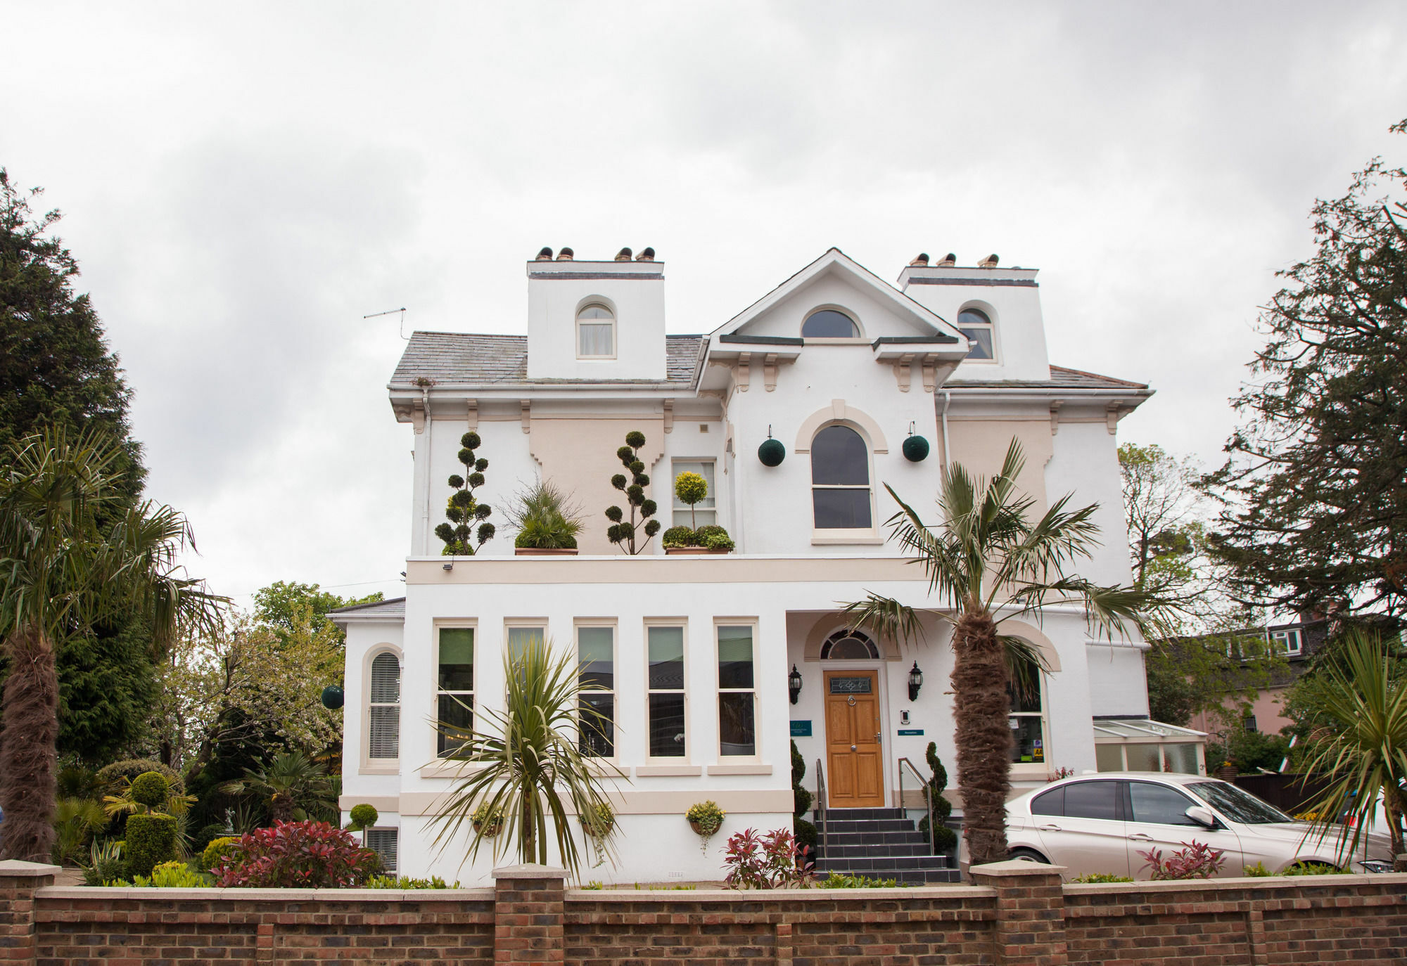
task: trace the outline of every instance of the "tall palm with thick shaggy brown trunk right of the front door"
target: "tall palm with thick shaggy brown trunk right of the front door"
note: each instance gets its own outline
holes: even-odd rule
[[[1152,603],[1131,586],[1100,586],[1065,574],[1097,546],[1097,505],[1068,510],[1069,496],[1062,496],[1033,523],[1036,501],[1016,489],[1023,464],[1013,439],[991,481],[974,481],[958,464],[946,468],[937,499],[941,519],[931,527],[885,485],[902,508],[889,519],[893,537],[923,564],[929,593],[955,612],[954,741],[962,834],[974,865],[1006,858],[1007,688],[1033,686],[1036,669],[1045,668],[1034,647],[1000,633],[1002,622],[1040,616],[1048,605],[1081,603],[1090,624],[1112,637],[1127,626],[1142,630],[1140,612]],[[892,640],[922,638],[919,612],[891,598],[871,593],[847,612],[855,626],[868,624]]]

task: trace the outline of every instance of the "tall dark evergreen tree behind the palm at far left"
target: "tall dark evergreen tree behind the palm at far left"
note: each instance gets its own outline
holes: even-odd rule
[[[104,533],[135,505],[146,470],[131,436],[132,392],[103,323],[73,290],[79,266],[53,236],[58,211],[34,215],[39,188],[21,191],[0,169],[0,451],[49,426],[103,430],[115,440],[110,487],[97,509]],[[141,738],[155,678],[151,629],[114,614],[58,654],[59,754],[97,764]],[[6,668],[0,666],[0,681]]]

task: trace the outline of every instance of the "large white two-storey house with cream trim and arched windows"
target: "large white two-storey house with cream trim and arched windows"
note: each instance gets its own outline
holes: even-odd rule
[[[539,634],[590,657],[611,689],[613,735],[597,751],[626,779],[619,858],[594,879],[719,877],[729,834],[789,827],[791,740],[810,789],[820,762],[832,809],[900,804],[900,780],[916,786],[900,759],[927,778],[929,741],[955,771],[950,624],[936,614],[923,644],[900,648],[840,613],[871,591],[937,609],[886,543],[896,506],[882,484],[931,508],[948,461],[991,474],[1019,437],[1020,485],[1041,508],[1067,492],[1100,505],[1104,547],[1081,572],[1130,577],[1116,429],[1151,391],[1051,366],[1036,276],[922,257],[892,285],[830,249],[709,335],[667,335],[653,252],[545,252],[528,263],[526,336],[415,332],[388,384],[415,446],[405,598],[335,614],[348,631],[342,807],[380,810],[369,841],[402,875],[484,877],[487,858],[433,844],[459,768],[435,720],[501,703],[505,643]],[[499,530],[478,555],[445,557],[435,527],[469,430]],[[726,527],[734,553],[667,555],[656,539],[626,555],[606,540],[630,430],[644,433],[664,526],[689,522],[671,509],[674,477],[701,472],[698,522]],[[927,446],[905,447],[910,436]],[[777,465],[758,456],[768,439],[785,449]],[[515,555],[501,509],[539,478],[587,510],[580,555]],[[1200,768],[1190,733],[1147,723],[1141,643],[1095,640],[1074,609],[1003,627],[1051,669],[1040,702],[1013,707],[1019,787],[1095,769],[1096,745],[1106,766],[1151,754]],[[706,799],[727,820],[701,849],[684,813]]]

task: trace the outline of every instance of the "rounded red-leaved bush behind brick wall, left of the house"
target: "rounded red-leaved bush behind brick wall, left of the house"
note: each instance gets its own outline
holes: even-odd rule
[[[277,821],[242,835],[211,873],[222,887],[338,889],[360,886],[380,870],[380,856],[342,828]]]

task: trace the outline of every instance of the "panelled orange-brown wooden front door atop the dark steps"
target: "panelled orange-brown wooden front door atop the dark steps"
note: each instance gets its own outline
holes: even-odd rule
[[[826,672],[826,807],[882,809],[879,672]]]

